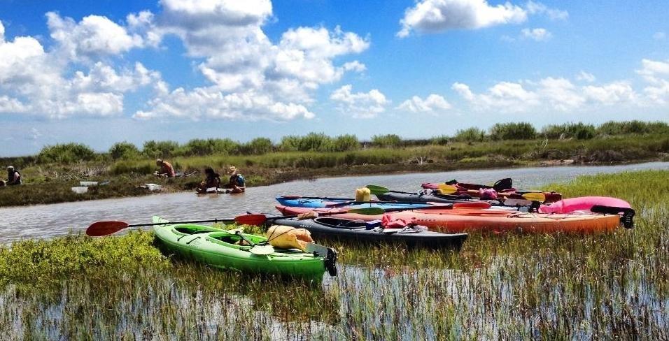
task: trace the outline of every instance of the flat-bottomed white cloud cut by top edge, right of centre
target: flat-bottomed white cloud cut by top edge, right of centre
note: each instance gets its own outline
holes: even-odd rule
[[[402,38],[411,31],[435,33],[448,29],[481,29],[525,22],[527,11],[512,3],[491,6],[486,0],[421,0],[407,8],[400,20]]]

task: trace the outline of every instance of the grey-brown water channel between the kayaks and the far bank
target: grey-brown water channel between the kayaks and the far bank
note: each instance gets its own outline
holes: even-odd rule
[[[512,177],[514,186],[523,189],[540,187],[551,182],[564,182],[579,175],[618,173],[631,170],[669,169],[669,162],[651,162],[621,166],[564,166],[512,168],[490,170],[458,170],[442,173],[410,173],[401,175],[372,175],[327,177],[251,187],[246,194],[221,195],[216,198],[198,197],[192,193],[155,194],[132,198],[80,201],[52,205],[0,209],[0,243],[27,238],[52,238],[68,231],[82,231],[99,220],[122,220],[130,224],[150,222],[160,215],[167,219],[213,219],[234,217],[246,211],[273,214],[281,195],[352,197],[355,188],[379,184],[399,191],[418,191],[423,182],[444,182],[457,179],[463,182],[492,183]]]

